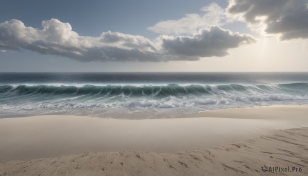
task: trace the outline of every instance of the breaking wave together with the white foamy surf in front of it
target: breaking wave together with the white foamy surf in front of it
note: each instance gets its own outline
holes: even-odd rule
[[[290,103],[291,102],[291,103]],[[230,107],[307,104],[308,83],[276,85],[2,85],[0,111],[31,114],[100,112],[103,109],[195,111]],[[118,109],[117,109],[118,108]],[[194,108],[192,108],[194,109]]]

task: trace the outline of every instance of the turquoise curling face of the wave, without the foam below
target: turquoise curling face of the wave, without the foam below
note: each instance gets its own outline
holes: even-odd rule
[[[0,94],[18,96],[24,94],[41,95],[95,95],[95,96],[149,96],[167,97],[183,95],[228,95],[228,94],[260,94],[260,93],[308,93],[308,83],[291,83],[277,85],[83,85],[83,86],[53,86],[53,85],[3,85]]]

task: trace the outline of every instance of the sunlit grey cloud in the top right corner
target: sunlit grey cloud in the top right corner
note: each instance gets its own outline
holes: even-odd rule
[[[308,38],[307,3],[307,0],[231,0],[227,13],[255,31],[279,34],[280,40]]]

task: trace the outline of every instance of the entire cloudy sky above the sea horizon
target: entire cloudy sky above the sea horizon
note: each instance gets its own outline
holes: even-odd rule
[[[0,4],[0,72],[308,71],[308,0]]]

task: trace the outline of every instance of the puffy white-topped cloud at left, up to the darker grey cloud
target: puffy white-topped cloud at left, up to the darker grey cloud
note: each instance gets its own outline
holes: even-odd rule
[[[142,36],[118,32],[102,33],[100,37],[80,36],[72,31],[69,23],[54,18],[43,21],[42,26],[42,30],[26,27],[16,19],[1,23],[0,48],[24,48],[81,62],[160,61],[153,44]]]

